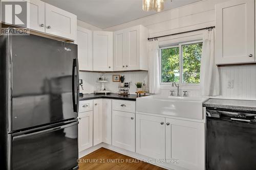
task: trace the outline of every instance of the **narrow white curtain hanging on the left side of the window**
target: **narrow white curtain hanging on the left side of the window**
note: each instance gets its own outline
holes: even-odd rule
[[[158,41],[149,41],[149,59],[148,59],[148,85],[150,93],[160,92],[159,75],[159,44]]]

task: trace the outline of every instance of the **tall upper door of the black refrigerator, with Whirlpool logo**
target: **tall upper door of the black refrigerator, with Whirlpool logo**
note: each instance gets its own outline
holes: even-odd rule
[[[77,117],[77,45],[36,35],[10,39],[9,131]]]

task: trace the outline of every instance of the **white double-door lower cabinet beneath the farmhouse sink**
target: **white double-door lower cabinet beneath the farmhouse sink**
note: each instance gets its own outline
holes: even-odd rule
[[[204,169],[204,123],[136,114],[136,152],[175,166]]]

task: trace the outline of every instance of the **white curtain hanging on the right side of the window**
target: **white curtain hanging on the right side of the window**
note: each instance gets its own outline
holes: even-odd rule
[[[220,75],[215,63],[215,30],[206,30],[203,39],[200,85],[202,95],[220,95]]]

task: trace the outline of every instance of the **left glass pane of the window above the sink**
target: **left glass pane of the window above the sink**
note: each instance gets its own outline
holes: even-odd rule
[[[161,82],[179,82],[179,47],[161,50]]]

